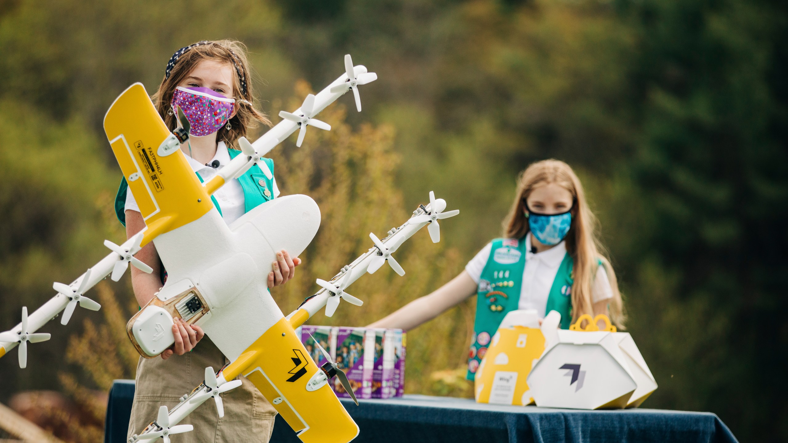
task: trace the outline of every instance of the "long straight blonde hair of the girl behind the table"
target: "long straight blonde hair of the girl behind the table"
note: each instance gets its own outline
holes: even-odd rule
[[[542,160],[532,163],[517,179],[517,197],[511,204],[511,210],[504,219],[504,237],[522,239],[529,232],[528,218],[523,214],[522,202],[528,199],[533,189],[545,184],[558,184],[571,193],[574,200],[572,206],[572,222],[566,236],[567,253],[571,255],[574,266],[572,277],[572,322],[578,317],[588,314],[593,317],[591,303],[591,288],[594,276],[597,274],[597,260],[602,262],[608,274],[613,298],[610,300],[611,321],[623,329],[624,312],[619,285],[615,279],[615,272],[610,260],[604,254],[604,248],[598,238],[597,218],[585,202],[580,179],[572,168],[559,160]]]

